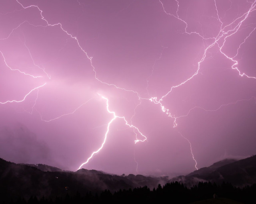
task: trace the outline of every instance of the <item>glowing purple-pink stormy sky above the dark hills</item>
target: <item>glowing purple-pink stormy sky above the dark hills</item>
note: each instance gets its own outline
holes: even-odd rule
[[[256,153],[255,1],[3,0],[0,24],[3,159],[174,175]]]

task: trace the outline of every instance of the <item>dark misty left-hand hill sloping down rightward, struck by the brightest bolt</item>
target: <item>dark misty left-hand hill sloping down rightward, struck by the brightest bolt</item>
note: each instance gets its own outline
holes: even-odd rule
[[[25,199],[31,196],[55,197],[70,195],[76,192],[101,192],[110,189],[136,188],[147,185],[156,187],[159,183],[168,182],[168,178],[145,177],[143,175],[118,176],[102,171],[80,169],[76,172],[55,171],[56,167],[48,165],[15,164],[0,159],[0,195],[6,200]]]

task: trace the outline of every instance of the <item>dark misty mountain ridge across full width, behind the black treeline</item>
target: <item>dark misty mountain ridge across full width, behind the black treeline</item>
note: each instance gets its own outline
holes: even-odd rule
[[[19,197],[25,200],[31,196],[56,198],[56,196],[65,197],[67,193],[70,196],[75,196],[77,192],[95,194],[106,189],[114,193],[120,192],[120,189],[128,190],[141,186],[147,186],[150,189],[155,189],[157,186],[157,190],[162,188],[159,184],[170,184],[176,181],[182,182],[188,188],[199,185],[200,181],[216,184],[229,182],[235,186],[256,183],[256,156],[238,161],[232,161],[232,159],[219,161],[186,176],[172,179],[133,174],[118,176],[88,169],[79,169],[76,172],[55,171],[57,169],[42,164],[15,164],[0,158],[0,199],[9,202]]]

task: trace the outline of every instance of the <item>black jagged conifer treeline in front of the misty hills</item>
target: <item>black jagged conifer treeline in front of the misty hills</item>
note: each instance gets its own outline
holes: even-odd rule
[[[238,188],[230,183],[223,182],[217,185],[211,182],[199,182],[191,188],[187,188],[182,183],[172,182],[164,186],[160,184],[153,190],[147,186],[130,188],[128,190],[119,190],[111,193],[105,190],[100,194],[92,194],[90,192],[81,196],[79,192],[71,196],[66,194],[64,197],[55,198],[40,198],[32,196],[29,200],[19,198],[16,201],[11,201],[10,204],[98,204],[98,203],[160,203],[168,200],[169,203],[190,203],[199,200],[213,198],[214,194],[218,197],[230,198],[242,203],[256,203],[256,184]],[[218,199],[218,198],[217,198]],[[7,203],[6,203],[7,204]]]

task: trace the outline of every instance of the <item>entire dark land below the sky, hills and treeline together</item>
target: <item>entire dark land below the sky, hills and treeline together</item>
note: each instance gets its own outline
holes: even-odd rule
[[[165,199],[173,203],[237,203],[226,198],[256,203],[256,156],[223,160],[172,180],[87,169],[58,170],[0,159],[0,203],[158,203]],[[213,194],[226,198],[206,200]]]

